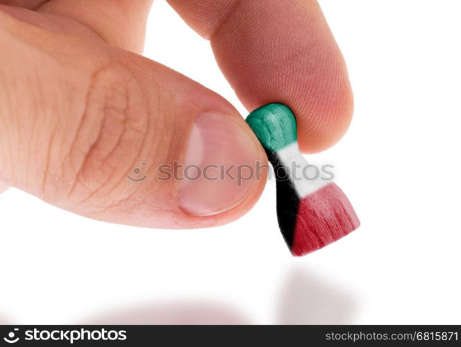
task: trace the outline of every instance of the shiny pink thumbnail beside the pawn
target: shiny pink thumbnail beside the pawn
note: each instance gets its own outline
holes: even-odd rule
[[[258,160],[258,140],[242,119],[202,112],[190,134],[179,205],[196,216],[235,208],[255,185]]]

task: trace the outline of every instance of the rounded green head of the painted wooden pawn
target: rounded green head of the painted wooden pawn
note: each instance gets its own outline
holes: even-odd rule
[[[296,118],[283,103],[268,103],[246,117],[265,149],[278,151],[296,142]]]

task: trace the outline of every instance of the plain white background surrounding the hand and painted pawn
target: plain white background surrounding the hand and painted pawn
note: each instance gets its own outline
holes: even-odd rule
[[[0,195],[0,323],[461,323],[460,1],[325,0],[355,95],[333,163],[360,229],[293,258],[275,184],[208,230],[92,221]],[[246,110],[162,0],[145,55]]]

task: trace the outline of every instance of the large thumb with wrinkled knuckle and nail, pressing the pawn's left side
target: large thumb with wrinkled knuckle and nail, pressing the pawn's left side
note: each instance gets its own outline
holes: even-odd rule
[[[226,223],[262,192],[262,147],[221,96],[156,62],[0,20],[0,180],[87,217]]]

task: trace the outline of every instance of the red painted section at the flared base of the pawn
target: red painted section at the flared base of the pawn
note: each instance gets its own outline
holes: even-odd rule
[[[300,256],[326,246],[360,226],[347,196],[335,183],[305,196],[296,216],[291,245]]]

